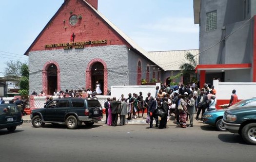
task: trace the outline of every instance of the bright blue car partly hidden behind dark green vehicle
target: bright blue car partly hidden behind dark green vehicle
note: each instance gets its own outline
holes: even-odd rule
[[[203,122],[205,124],[209,124],[212,126],[216,126],[217,130],[219,131],[227,131],[223,122],[222,118],[224,115],[224,112],[228,109],[234,109],[237,107],[244,107],[244,106],[249,106],[249,105],[255,105],[256,106],[256,98],[250,98],[250,99],[245,99],[237,102],[236,104],[230,106],[227,109],[219,109],[219,110],[214,110],[214,111],[206,111],[203,115]]]

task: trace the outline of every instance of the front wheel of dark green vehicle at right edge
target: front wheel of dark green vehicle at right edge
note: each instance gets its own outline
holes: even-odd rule
[[[245,125],[241,135],[246,143],[256,145],[256,123]]]

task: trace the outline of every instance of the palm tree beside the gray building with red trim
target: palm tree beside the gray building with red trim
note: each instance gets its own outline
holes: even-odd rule
[[[185,59],[188,62],[181,64],[179,66],[179,69],[180,69],[181,73],[183,74],[183,76],[186,76],[186,78],[184,77],[184,79],[189,79],[187,81],[190,81],[191,75],[193,75],[193,76],[196,75],[196,78],[197,78],[197,74],[195,72],[196,66],[197,66],[197,61],[196,61],[195,56],[190,52],[187,52],[185,54]]]

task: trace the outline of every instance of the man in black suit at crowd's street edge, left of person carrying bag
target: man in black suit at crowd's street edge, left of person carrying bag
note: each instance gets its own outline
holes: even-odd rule
[[[153,128],[153,120],[156,120],[156,127],[158,127],[158,115],[156,114],[157,108],[160,106],[160,98],[157,97],[156,100],[152,101],[151,105],[149,106],[149,113],[150,113],[150,123],[149,128]]]

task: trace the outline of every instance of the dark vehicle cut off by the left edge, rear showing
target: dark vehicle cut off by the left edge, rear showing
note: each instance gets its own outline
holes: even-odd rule
[[[14,131],[22,123],[22,114],[17,105],[0,104],[0,129]]]

